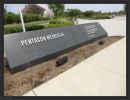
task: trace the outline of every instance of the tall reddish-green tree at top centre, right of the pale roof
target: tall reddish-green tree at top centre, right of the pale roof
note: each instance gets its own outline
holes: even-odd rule
[[[54,12],[55,16],[61,16],[64,14],[64,4],[49,4],[48,6]]]

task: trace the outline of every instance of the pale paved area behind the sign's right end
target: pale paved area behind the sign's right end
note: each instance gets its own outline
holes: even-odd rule
[[[86,20],[78,19],[79,24],[99,22],[108,32],[109,36],[126,36],[126,16],[115,17],[114,19]]]

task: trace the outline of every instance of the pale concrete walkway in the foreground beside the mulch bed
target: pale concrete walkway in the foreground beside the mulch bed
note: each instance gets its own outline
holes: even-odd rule
[[[24,96],[126,96],[126,38]]]

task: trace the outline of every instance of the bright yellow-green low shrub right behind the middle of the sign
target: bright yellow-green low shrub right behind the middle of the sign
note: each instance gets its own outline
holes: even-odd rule
[[[48,27],[63,27],[63,26],[69,26],[73,25],[73,22],[69,20],[60,20],[60,19],[53,19],[49,22]]]

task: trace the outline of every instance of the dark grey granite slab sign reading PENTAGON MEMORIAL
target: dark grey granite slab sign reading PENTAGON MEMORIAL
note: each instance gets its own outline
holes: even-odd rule
[[[4,51],[12,73],[107,36],[95,23],[49,28],[4,36]]]

